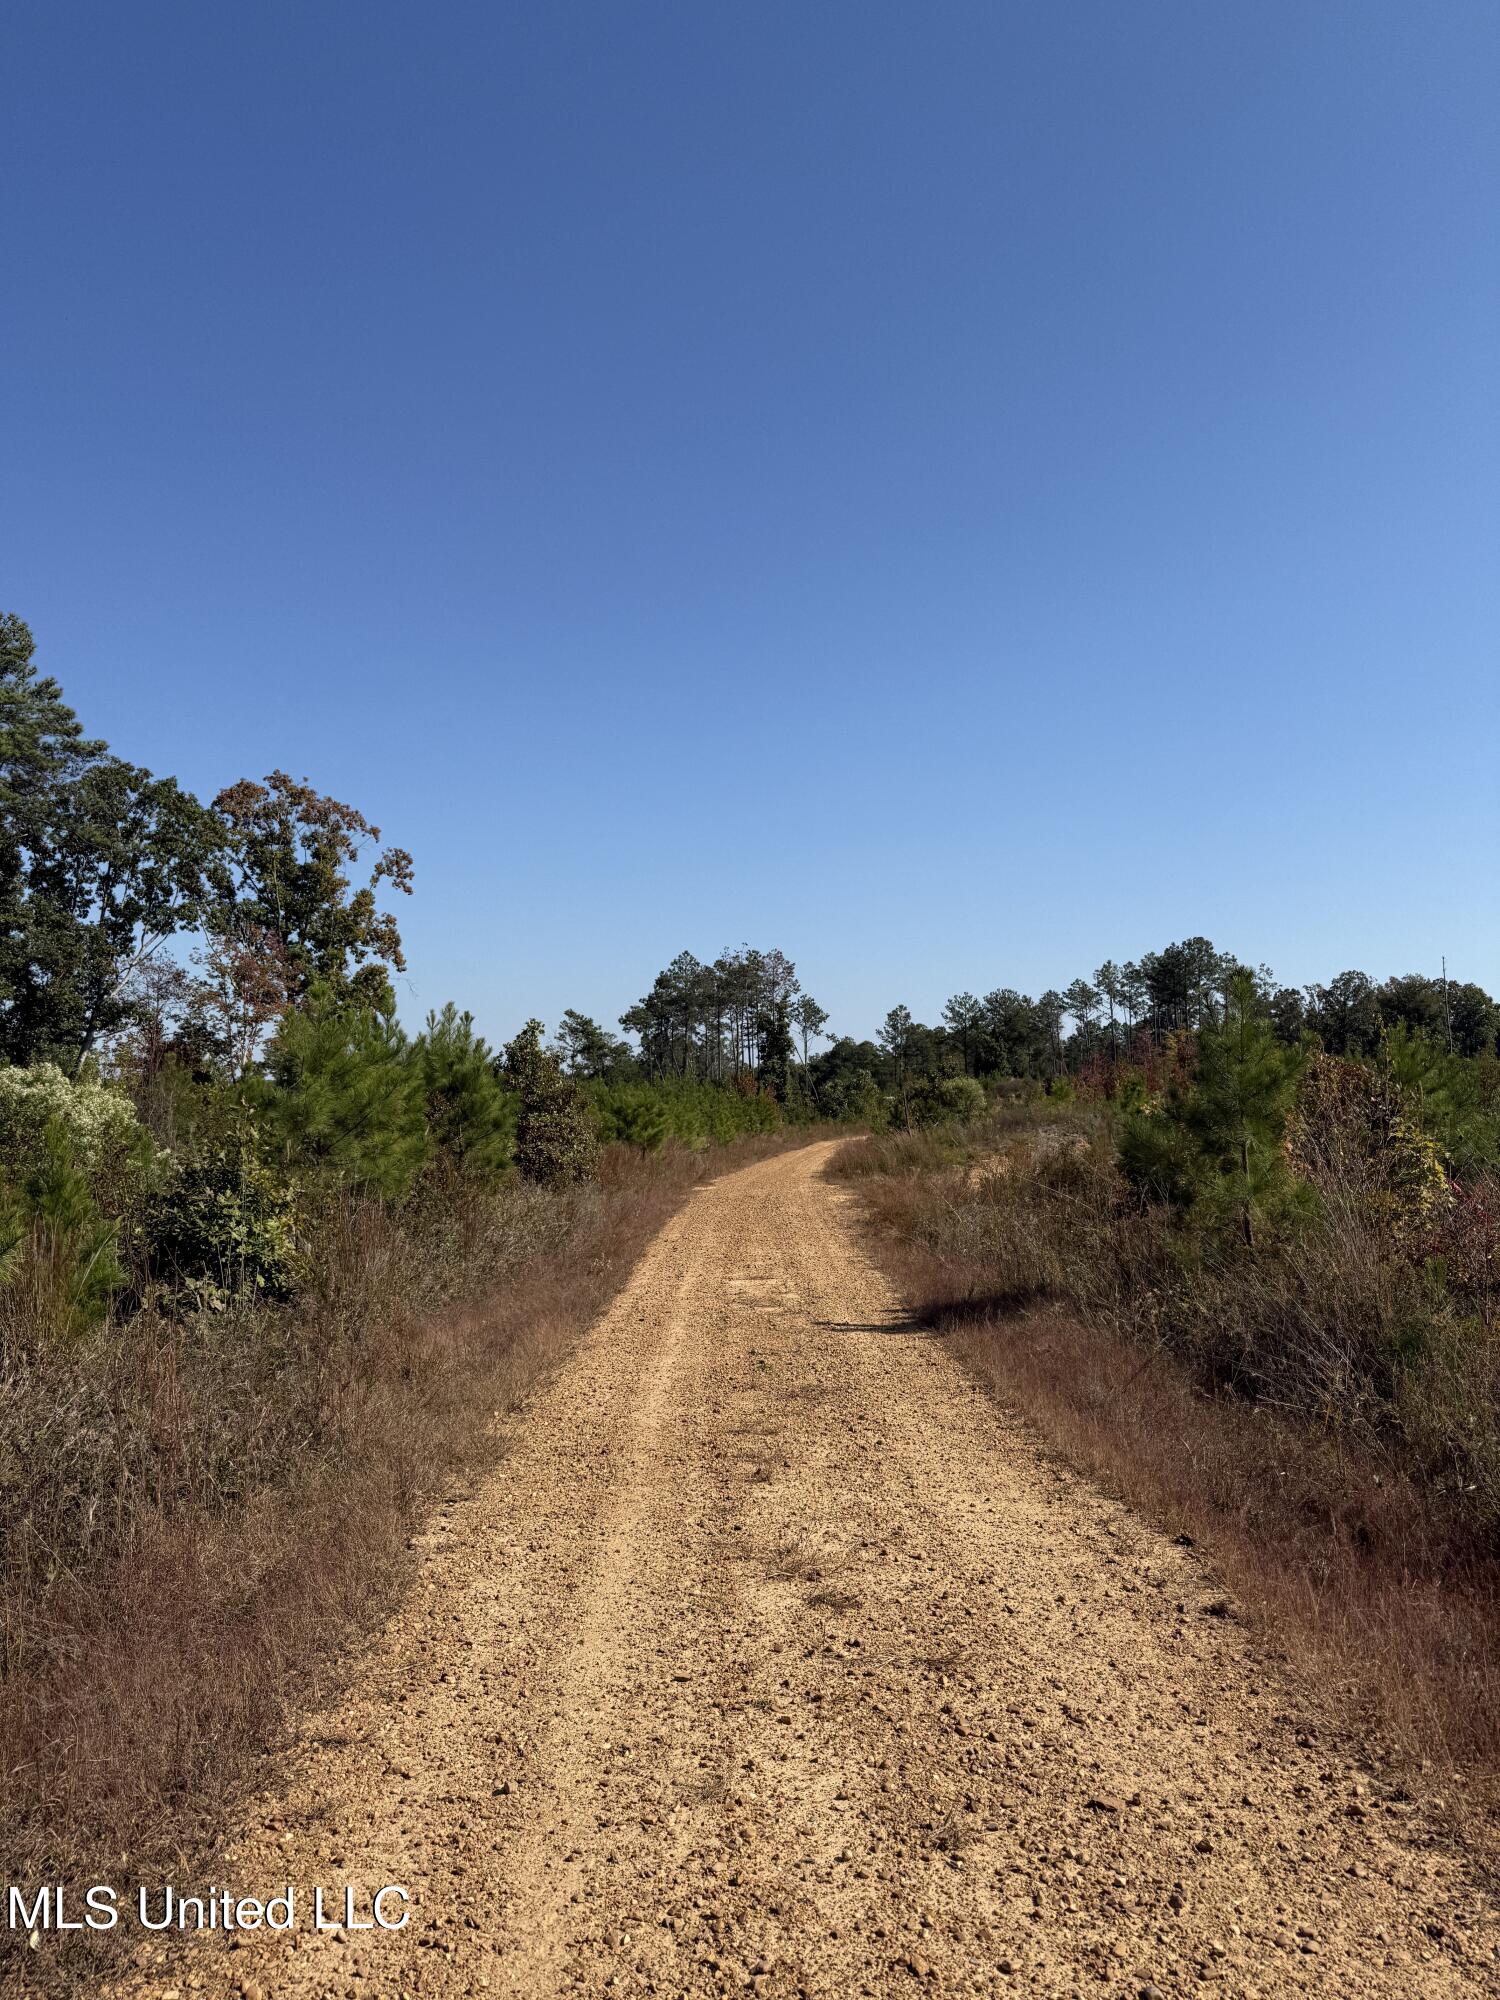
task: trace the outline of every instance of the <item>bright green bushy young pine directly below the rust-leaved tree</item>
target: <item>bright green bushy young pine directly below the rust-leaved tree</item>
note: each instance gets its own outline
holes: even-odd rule
[[[432,1152],[422,1084],[390,990],[362,1006],[320,986],[282,1018],[250,1098],[294,1174],[400,1200]]]

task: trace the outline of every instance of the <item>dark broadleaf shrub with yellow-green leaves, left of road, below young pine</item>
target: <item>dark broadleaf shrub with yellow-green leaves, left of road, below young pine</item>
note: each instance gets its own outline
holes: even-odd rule
[[[244,1124],[186,1158],[146,1218],[146,1254],[166,1296],[222,1312],[238,1298],[288,1298],[302,1276],[296,1184],[272,1172]]]

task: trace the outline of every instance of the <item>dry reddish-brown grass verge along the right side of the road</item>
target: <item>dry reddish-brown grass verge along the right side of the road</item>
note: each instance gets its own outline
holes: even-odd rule
[[[1438,1322],[1422,1366],[1380,1380],[1370,1352],[1406,1332],[1412,1296],[1348,1218],[1292,1260],[1198,1272],[1070,1152],[976,1182],[962,1138],[924,1136],[850,1148],[844,1172],[876,1254],[986,1386],[1200,1544],[1348,1722],[1494,1810],[1490,1342],[1464,1350]]]

